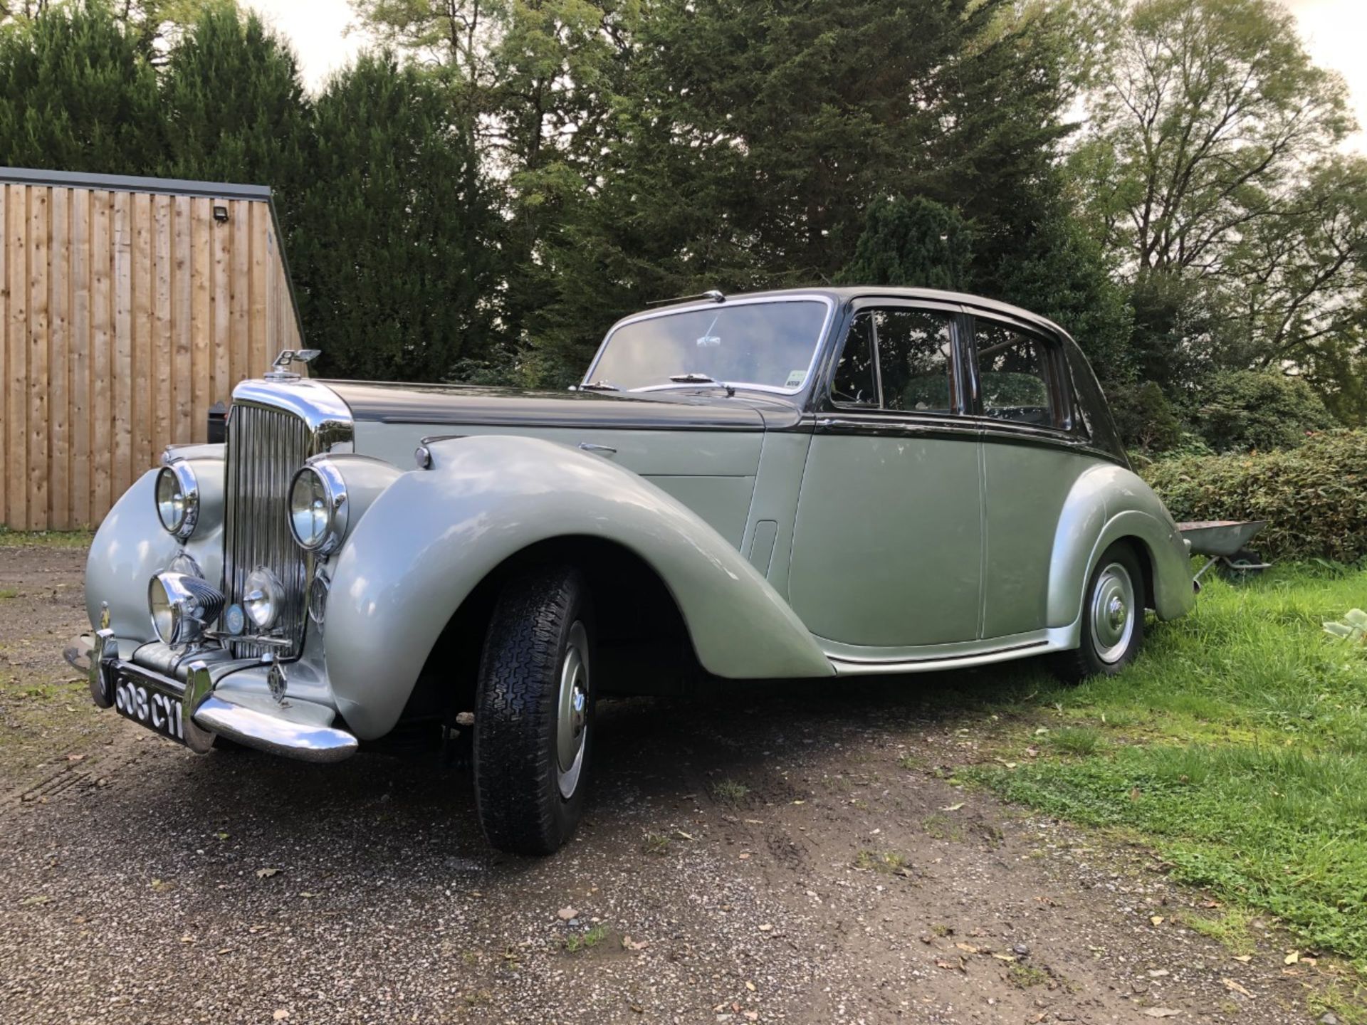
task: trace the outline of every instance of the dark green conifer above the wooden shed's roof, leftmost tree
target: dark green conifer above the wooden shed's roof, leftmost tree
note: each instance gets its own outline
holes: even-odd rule
[[[107,4],[52,7],[0,34],[0,163],[148,174],[165,138],[156,71]]]

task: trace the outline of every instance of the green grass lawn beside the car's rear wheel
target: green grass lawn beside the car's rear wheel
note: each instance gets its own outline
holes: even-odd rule
[[[1353,607],[1367,607],[1363,570],[1211,579],[1189,616],[1150,620],[1118,678],[1012,681],[1020,697],[994,709],[999,761],[962,775],[1143,835],[1226,902],[1193,928],[1237,947],[1248,912],[1271,912],[1304,953],[1367,972],[1367,646],[1322,629]]]

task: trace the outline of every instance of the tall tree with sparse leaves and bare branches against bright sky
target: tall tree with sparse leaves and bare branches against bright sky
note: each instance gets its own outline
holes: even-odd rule
[[[1337,161],[1342,82],[1271,0],[1115,3],[1073,154],[1088,221],[1133,283],[1146,369],[1303,359],[1360,305],[1367,175]]]

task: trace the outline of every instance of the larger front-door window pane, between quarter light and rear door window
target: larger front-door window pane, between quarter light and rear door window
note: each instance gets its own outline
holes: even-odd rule
[[[954,410],[950,390],[950,316],[931,310],[871,310],[883,377],[883,409]]]

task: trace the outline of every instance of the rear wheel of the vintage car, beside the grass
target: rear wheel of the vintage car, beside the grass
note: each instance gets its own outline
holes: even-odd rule
[[[1122,596],[1128,578],[1131,600]],[[1105,579],[1105,582],[1103,582]],[[1110,607],[1110,599],[1121,597],[1126,605],[1125,625],[1098,623],[1096,618]],[[1079,683],[1088,676],[1114,676],[1139,655],[1144,644],[1144,574],[1135,549],[1118,541],[1102,552],[1096,569],[1087,579],[1083,594],[1083,634],[1077,648],[1054,656],[1054,675],[1066,683]]]

